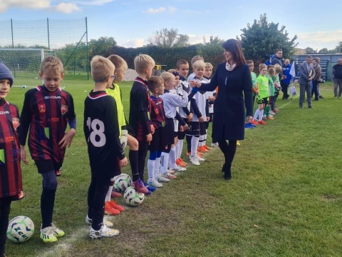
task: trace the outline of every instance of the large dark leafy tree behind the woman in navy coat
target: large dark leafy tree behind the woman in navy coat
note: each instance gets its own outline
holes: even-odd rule
[[[268,23],[266,14],[260,15],[259,21],[254,19],[252,25],[247,24],[247,28],[241,31],[241,39],[237,36],[237,40],[242,44],[246,59],[252,59],[257,63],[254,66],[264,63],[278,48],[283,50],[284,57],[289,58],[294,54],[294,48],[298,44],[295,43],[297,35],[289,39],[285,26],[279,29],[279,23]]]

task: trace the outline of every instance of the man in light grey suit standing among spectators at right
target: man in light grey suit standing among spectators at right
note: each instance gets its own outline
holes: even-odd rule
[[[312,57],[306,56],[306,60],[303,62],[303,64],[299,65],[299,72],[301,73],[301,76],[299,76],[299,108],[301,109],[303,109],[305,92],[306,98],[308,99],[308,108],[314,109],[314,107],[311,105],[311,80],[315,76],[315,71],[314,65],[311,63]]]

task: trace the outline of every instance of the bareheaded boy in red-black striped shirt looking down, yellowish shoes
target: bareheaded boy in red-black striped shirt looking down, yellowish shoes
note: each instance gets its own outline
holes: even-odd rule
[[[52,223],[53,206],[57,189],[56,172],[60,170],[66,146],[71,145],[76,133],[76,114],[73,97],[59,86],[64,78],[63,64],[56,56],[48,56],[41,63],[42,86],[25,94],[21,111],[19,141],[21,160],[26,160],[26,137],[28,148],[38,173],[43,178],[41,193],[41,239],[44,243],[55,242],[65,233]],[[70,130],[66,132],[69,124]],[[29,129],[29,132],[28,132]]]

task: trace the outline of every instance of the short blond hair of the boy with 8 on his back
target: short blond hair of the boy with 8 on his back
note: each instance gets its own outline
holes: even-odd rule
[[[94,56],[90,61],[90,67],[93,81],[100,81],[108,76],[112,76],[115,71],[114,64],[103,56]]]

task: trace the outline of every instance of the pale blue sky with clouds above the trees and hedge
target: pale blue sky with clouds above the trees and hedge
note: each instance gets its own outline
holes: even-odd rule
[[[160,29],[187,34],[190,44],[209,36],[231,39],[266,13],[269,22],[286,26],[299,48],[334,49],[342,41],[340,0],[0,0],[0,21],[10,19],[82,19],[88,40],[111,36],[119,46],[138,47]],[[318,2],[320,4],[318,4]]]

